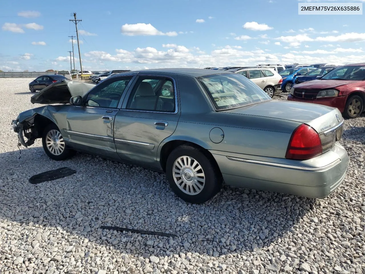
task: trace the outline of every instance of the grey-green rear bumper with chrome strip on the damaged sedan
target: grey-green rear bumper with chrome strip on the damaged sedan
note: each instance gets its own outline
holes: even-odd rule
[[[245,155],[212,154],[228,185],[308,198],[324,198],[337,189],[349,162],[346,150],[338,143],[331,151],[305,161],[278,158],[261,161],[245,159]]]

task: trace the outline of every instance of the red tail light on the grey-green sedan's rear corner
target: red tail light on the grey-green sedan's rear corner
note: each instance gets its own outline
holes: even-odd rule
[[[322,154],[318,133],[308,125],[298,126],[290,138],[285,158],[307,160]]]

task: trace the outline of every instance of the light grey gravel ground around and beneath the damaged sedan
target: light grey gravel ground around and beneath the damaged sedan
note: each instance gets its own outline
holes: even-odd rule
[[[37,107],[30,81],[0,79],[0,273],[365,273],[364,115],[345,121],[349,169],[329,197],[224,186],[191,205],[163,174],[81,153],[52,161],[39,140],[19,159],[10,123]],[[60,167],[77,173],[28,182]]]

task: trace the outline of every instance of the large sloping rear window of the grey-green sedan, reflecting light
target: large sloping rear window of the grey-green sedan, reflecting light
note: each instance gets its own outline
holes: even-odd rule
[[[258,85],[236,73],[198,77],[216,110],[233,109],[271,100]]]

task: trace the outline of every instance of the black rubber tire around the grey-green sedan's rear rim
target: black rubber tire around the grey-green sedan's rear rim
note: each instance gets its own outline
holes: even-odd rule
[[[202,189],[197,194],[194,195],[187,194],[183,190],[181,190],[180,187],[177,186],[177,183],[175,183],[173,168],[175,165],[175,161],[180,159],[180,157],[182,156],[188,156],[191,157],[192,160],[197,161],[197,163],[201,166],[201,170],[198,169],[196,170],[196,172],[199,172],[199,174],[201,174],[201,172],[204,173],[205,182],[203,184]],[[192,161],[192,163],[195,162]],[[180,170],[181,174],[183,174],[183,169]],[[212,158],[212,156],[209,155],[208,152],[204,151],[203,149],[194,148],[189,145],[178,146],[170,153],[166,162],[166,176],[169,181],[171,189],[178,197],[180,197],[186,202],[196,203],[196,204],[204,203],[213,198],[222,187],[222,182],[223,182],[222,174],[220,173],[219,167],[216,164],[215,160]],[[196,177],[189,177],[189,178],[196,178]],[[183,177],[181,177],[181,180],[183,180]],[[186,189],[188,189],[187,184],[186,183],[183,184],[185,184]],[[193,189],[193,187],[189,186],[189,189]]]

